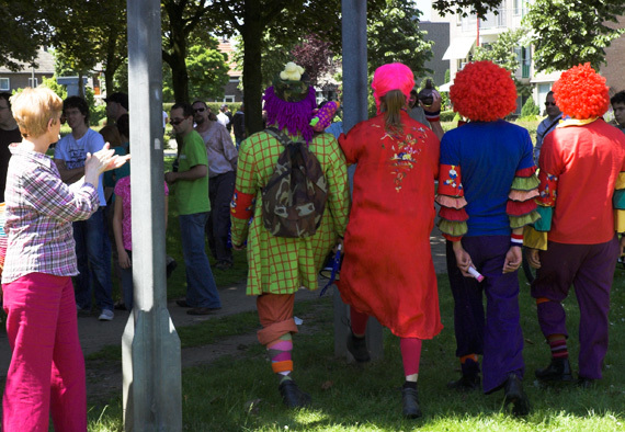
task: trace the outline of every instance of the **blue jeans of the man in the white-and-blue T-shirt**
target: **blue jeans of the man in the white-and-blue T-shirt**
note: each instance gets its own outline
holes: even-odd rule
[[[99,309],[113,310],[111,281],[111,241],[109,240],[106,207],[100,207],[87,220],[72,224],[76,241],[78,271],[76,276],[76,304],[81,309],[91,309],[91,291],[95,294]]]

